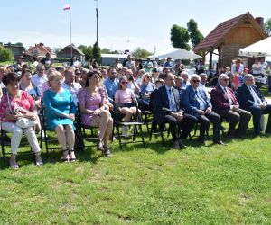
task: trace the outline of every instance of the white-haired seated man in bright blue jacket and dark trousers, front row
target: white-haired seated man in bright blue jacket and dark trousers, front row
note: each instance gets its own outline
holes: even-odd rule
[[[192,75],[191,82],[182,95],[182,103],[185,112],[197,117],[201,124],[199,142],[204,144],[204,133],[209,130],[210,121],[213,123],[213,142],[224,145],[220,137],[220,116],[212,112],[212,105],[206,92],[199,88],[201,78],[199,75]]]

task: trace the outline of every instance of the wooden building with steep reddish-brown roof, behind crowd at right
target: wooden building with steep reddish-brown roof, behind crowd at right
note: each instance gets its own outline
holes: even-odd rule
[[[212,54],[218,51],[219,66],[230,66],[232,59],[238,57],[239,49],[243,49],[259,40],[267,38],[263,28],[263,18],[256,19],[248,12],[228,21],[220,23],[206,38],[193,48],[195,53],[203,53],[202,59],[210,53],[210,69]],[[249,62],[248,62],[249,63]]]

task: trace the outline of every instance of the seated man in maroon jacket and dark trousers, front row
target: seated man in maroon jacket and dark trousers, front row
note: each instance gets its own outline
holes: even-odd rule
[[[251,113],[239,108],[239,103],[232,89],[228,87],[229,76],[221,74],[218,85],[210,92],[212,110],[229,121],[228,137],[241,137],[246,135]],[[238,129],[235,127],[238,125]]]

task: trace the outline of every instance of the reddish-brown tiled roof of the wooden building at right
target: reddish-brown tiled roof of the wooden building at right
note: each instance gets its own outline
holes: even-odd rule
[[[254,28],[263,36],[267,37],[264,29],[256,22],[254,17],[248,12],[246,14],[238,15],[228,21],[220,23],[213,31],[211,31],[201,42],[193,48],[194,52],[210,51],[217,49],[223,39],[229,34],[229,31],[236,28],[239,24],[249,21]]]

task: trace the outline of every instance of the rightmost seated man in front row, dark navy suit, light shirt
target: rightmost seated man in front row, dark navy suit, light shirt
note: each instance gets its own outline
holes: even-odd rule
[[[240,108],[251,112],[253,115],[254,135],[261,135],[261,116],[267,113],[269,113],[269,117],[266,133],[271,133],[271,104],[268,104],[265,97],[260,94],[259,89],[255,85],[254,77],[251,74],[244,76],[244,84],[238,87],[237,98]]]

